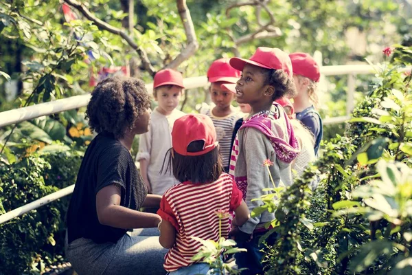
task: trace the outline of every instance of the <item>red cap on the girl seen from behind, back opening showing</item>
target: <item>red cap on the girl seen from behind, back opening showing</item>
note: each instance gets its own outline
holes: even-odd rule
[[[190,142],[203,140],[203,150],[199,152],[187,152]],[[216,141],[216,129],[211,118],[201,114],[187,114],[177,119],[172,129],[173,150],[180,155],[203,155],[212,151],[218,142]]]

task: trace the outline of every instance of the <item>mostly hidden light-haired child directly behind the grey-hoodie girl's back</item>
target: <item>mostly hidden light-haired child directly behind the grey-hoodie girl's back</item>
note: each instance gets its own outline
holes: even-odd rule
[[[312,132],[307,129],[300,120],[296,119],[293,104],[288,98],[279,98],[275,101],[279,103],[288,114],[290,124],[293,126],[295,137],[297,142],[299,142],[299,147],[301,148],[299,155],[297,155],[292,162],[293,179],[295,179],[296,177],[300,177],[304,173],[306,166],[316,159],[313,148],[314,137]]]

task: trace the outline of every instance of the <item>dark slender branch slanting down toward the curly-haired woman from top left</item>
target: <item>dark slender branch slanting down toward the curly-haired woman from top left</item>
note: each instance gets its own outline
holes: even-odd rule
[[[141,47],[139,47],[135,43],[135,41],[132,40],[132,38],[130,36],[128,36],[126,34],[126,32],[123,32],[119,28],[116,28],[113,25],[110,25],[110,24],[98,19],[93,14],[91,14],[91,12],[86,7],[84,7],[84,5],[82,3],[78,3],[77,1],[73,1],[73,0],[64,0],[64,1],[66,3],[68,3],[69,5],[71,5],[73,8],[75,8],[76,10],[78,10],[79,12],[81,12],[84,15],[84,17],[86,17],[90,21],[93,21],[93,23],[95,23],[95,25],[97,25],[98,28],[100,28],[101,30],[106,30],[107,32],[111,32],[112,34],[117,34],[117,35],[121,36],[122,39],[124,39],[128,43],[128,45],[130,45],[130,47],[132,47],[133,50],[135,50],[137,52],[137,54],[139,54],[140,59],[141,59],[141,63],[143,64],[146,71],[151,76],[155,76],[155,73],[156,73],[155,68],[150,63],[148,55],[146,54],[146,52]]]

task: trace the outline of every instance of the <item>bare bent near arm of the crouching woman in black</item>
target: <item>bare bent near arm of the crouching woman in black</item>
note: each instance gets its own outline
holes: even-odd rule
[[[158,214],[144,213],[120,206],[121,190],[111,184],[96,195],[96,210],[102,225],[113,228],[156,228],[161,218]]]

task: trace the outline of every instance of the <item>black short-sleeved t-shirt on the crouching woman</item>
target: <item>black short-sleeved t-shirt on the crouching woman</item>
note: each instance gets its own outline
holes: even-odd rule
[[[84,153],[67,211],[69,243],[79,238],[115,243],[126,234],[126,229],[102,225],[98,219],[96,195],[111,184],[122,186],[121,206],[138,210],[146,198],[146,185],[128,149],[113,134],[100,133]]]

